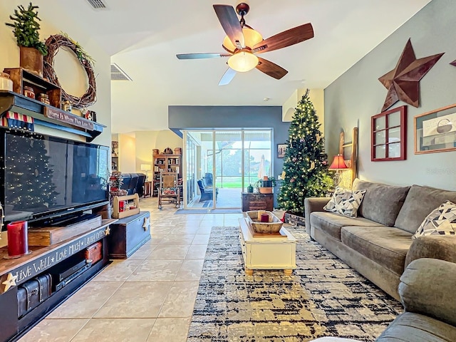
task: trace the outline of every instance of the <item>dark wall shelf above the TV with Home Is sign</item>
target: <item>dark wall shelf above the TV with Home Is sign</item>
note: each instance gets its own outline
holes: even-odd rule
[[[95,123],[73,113],[63,111],[60,108],[53,107],[52,105],[46,105],[33,98],[27,98],[19,93],[0,90],[0,116],[9,110],[31,116],[36,125],[55,128],[86,137],[86,141],[88,142],[98,137],[103,132],[103,128],[106,127],[100,123]],[[45,116],[45,113],[46,115],[48,113],[58,113],[58,115],[65,117],[66,121],[57,120],[57,114]]]

